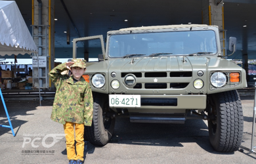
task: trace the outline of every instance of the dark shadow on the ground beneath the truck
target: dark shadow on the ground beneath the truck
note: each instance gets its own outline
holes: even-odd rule
[[[86,154],[93,154],[95,146],[87,143]],[[117,118],[114,135],[109,143],[144,146],[184,147],[184,143],[196,143],[211,154],[221,153],[213,150],[209,142],[208,127],[203,120],[187,120],[184,124],[131,123],[129,118]]]

